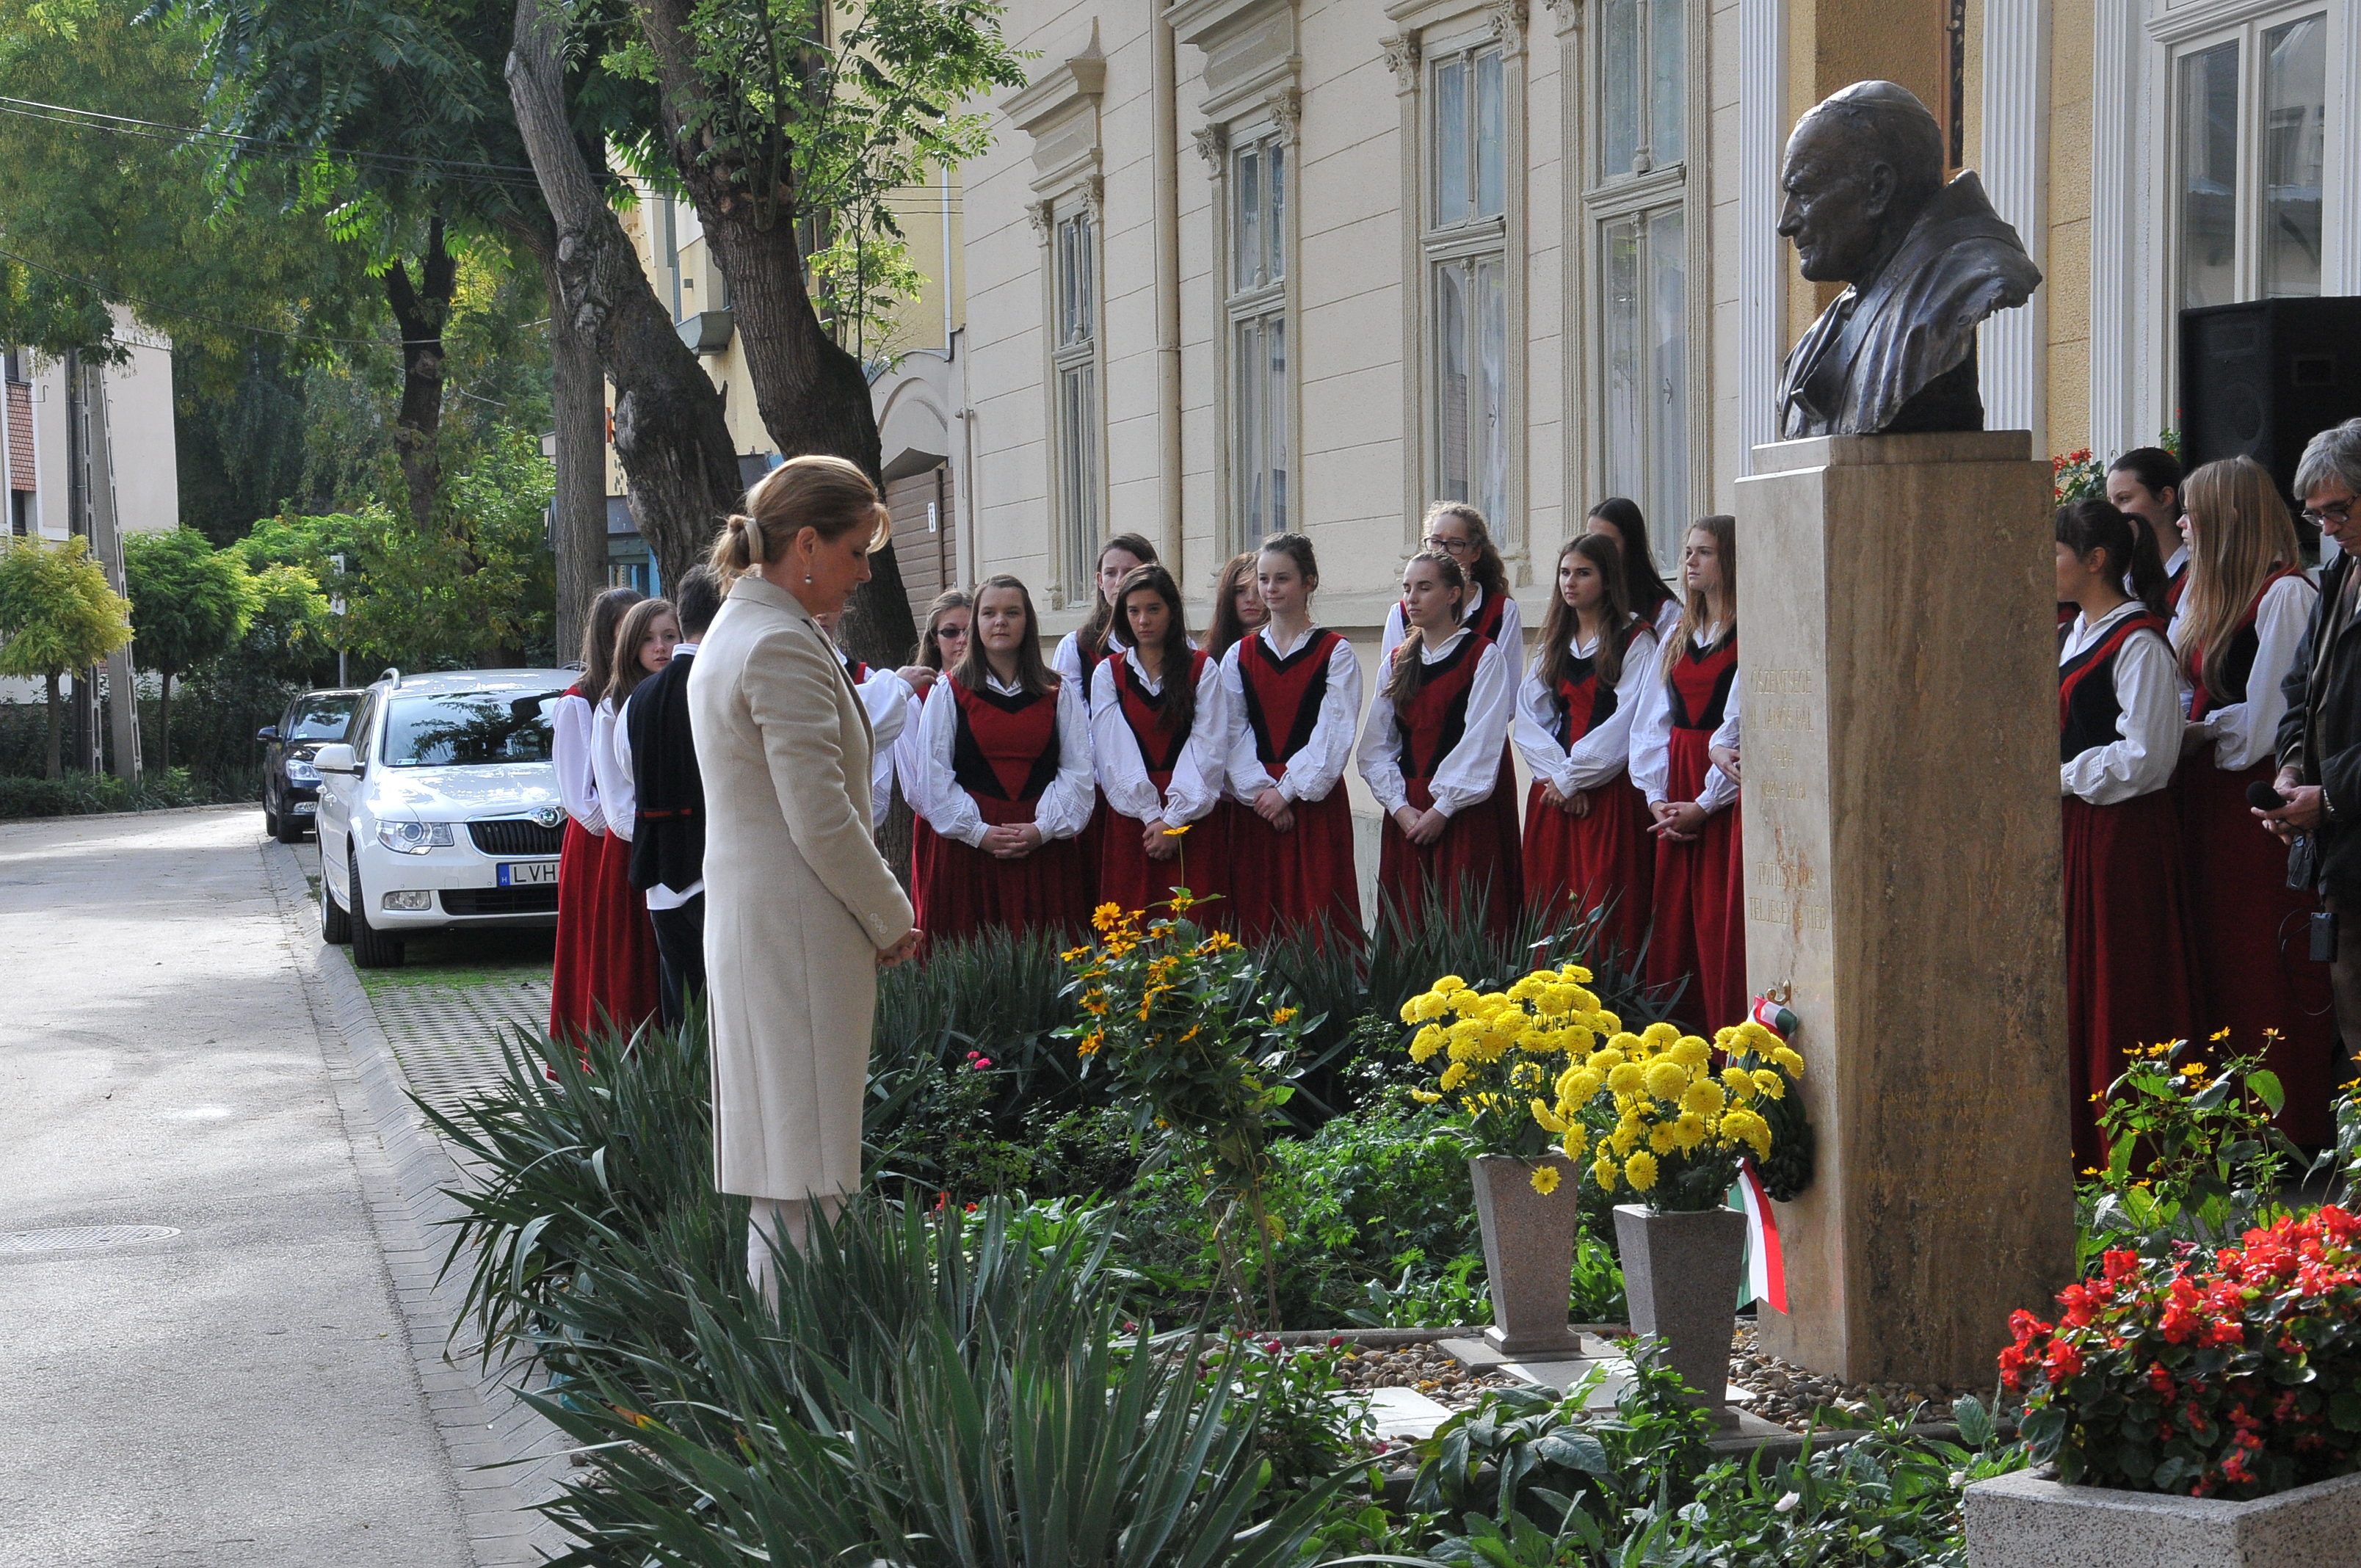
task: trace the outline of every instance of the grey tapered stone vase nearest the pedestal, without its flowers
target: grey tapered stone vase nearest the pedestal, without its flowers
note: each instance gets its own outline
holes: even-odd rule
[[[1698,1391],[1698,1403],[1731,1426],[1731,1325],[1747,1216],[1738,1209],[1655,1214],[1615,1204],[1631,1332],[1665,1341],[1665,1360]]]

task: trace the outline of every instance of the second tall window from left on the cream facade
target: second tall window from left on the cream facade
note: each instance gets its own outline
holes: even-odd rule
[[[1230,151],[1232,545],[1294,527],[1287,449],[1287,139]]]

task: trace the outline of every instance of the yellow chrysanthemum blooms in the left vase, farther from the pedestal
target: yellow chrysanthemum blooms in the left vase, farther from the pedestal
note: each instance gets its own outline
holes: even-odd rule
[[[1435,1072],[1428,1086],[1410,1093],[1454,1112],[1469,1155],[1554,1155],[1554,1129],[1535,1112],[1549,1110],[1556,1084],[1622,1030],[1589,992],[1589,980],[1591,971],[1580,963],[1537,968],[1502,992],[1478,992],[1459,975],[1443,975],[1402,1004],[1402,1023],[1417,1025],[1410,1060]],[[1558,1167],[1535,1171],[1542,1193],[1556,1183]]]

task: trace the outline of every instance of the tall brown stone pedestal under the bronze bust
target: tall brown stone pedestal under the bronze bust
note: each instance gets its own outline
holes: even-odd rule
[[[1794,987],[1818,1181],[1790,1315],[1844,1381],[1981,1389],[2073,1275],[2049,465],[2012,432],[1738,482],[1747,985]]]

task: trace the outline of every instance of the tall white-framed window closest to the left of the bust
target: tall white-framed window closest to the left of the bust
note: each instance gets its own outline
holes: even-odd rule
[[[1603,0],[1584,191],[1598,281],[1608,494],[1660,517],[1669,571],[1688,503],[1688,0]]]

